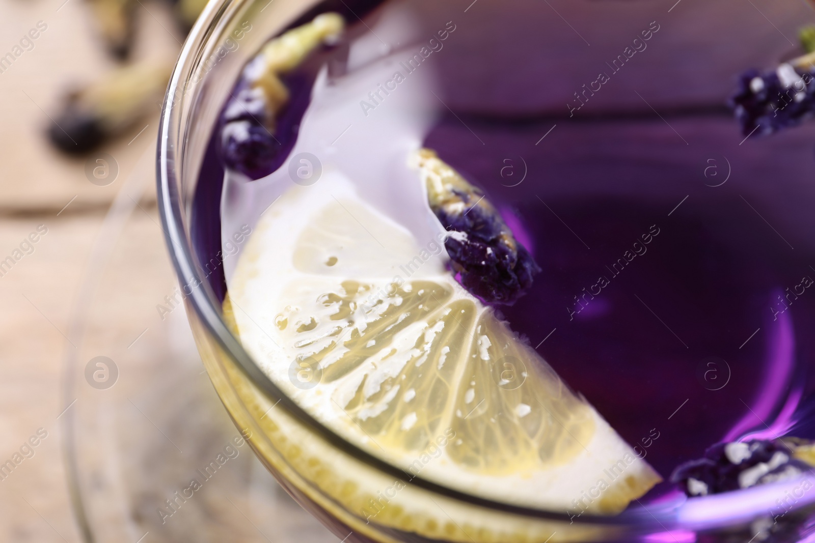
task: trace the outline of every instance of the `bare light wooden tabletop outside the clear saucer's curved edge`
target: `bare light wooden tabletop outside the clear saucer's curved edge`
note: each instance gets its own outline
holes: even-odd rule
[[[134,58],[174,59],[183,36],[171,33],[169,12],[156,2],[141,4]],[[0,57],[39,21],[46,25],[33,49],[0,72],[0,260],[13,256],[37,226],[47,229],[33,252],[0,277],[0,462],[12,459],[39,428],[47,432],[33,457],[0,480],[0,541],[80,541],[56,420],[65,407],[64,333],[108,204],[141,158],[152,169],[155,152],[157,108],[130,134],[100,150],[118,164],[117,180],[109,186],[87,180],[85,157],[60,155],[43,138],[67,85],[89,81],[112,66],[86,9],[81,0],[0,2]],[[155,190],[152,182],[147,186],[143,207],[155,216]],[[145,258],[153,261],[145,263],[146,273],[168,273],[165,251]],[[127,315],[117,318],[117,324],[127,324]]]

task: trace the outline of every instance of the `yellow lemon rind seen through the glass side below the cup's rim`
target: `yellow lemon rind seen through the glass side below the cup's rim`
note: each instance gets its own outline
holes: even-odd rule
[[[621,536],[631,536],[631,529],[623,526],[529,519],[488,506],[462,504],[422,488],[403,488],[397,496],[403,499],[401,503],[391,498],[388,505],[396,507],[388,513],[383,510],[381,517],[368,518],[362,511],[377,499],[374,492],[392,487],[394,478],[363,458],[334,449],[285,409],[278,410],[280,402],[264,394],[232,363],[231,354],[207,333],[195,313],[190,322],[209,377],[233,422],[284,488],[341,540],[353,532],[360,543],[466,543],[471,541],[469,529],[482,535],[492,527],[496,528],[486,541],[504,541],[502,536],[510,536],[511,541],[545,541],[556,532],[562,541],[575,543],[621,541]],[[403,474],[401,479],[407,477]],[[451,522],[432,525],[434,517],[426,511],[437,507]]]

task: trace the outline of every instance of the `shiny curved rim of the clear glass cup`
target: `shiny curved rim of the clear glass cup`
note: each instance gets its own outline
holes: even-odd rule
[[[361,462],[372,466],[387,475],[404,479],[405,472],[390,462],[378,458],[372,453],[361,449],[358,445],[350,443],[337,432],[325,427],[322,423],[308,414],[295,401],[285,394],[258,365],[240,341],[231,333],[226,322],[223,321],[214,300],[216,296],[209,286],[207,279],[196,266],[196,258],[192,243],[187,237],[184,219],[184,203],[178,190],[181,179],[179,170],[183,167],[184,143],[186,142],[188,125],[185,125],[179,114],[187,103],[194,101],[199,90],[185,92],[195,73],[195,59],[205,49],[212,37],[218,37],[216,30],[224,17],[235,15],[242,7],[252,5],[259,0],[218,0],[209,2],[202,11],[198,20],[192,27],[183,44],[174,66],[165,99],[161,106],[161,120],[159,122],[158,146],[156,150],[156,190],[158,209],[161,224],[164,230],[165,242],[170,252],[170,260],[180,281],[194,278],[200,283],[191,289],[186,296],[187,310],[192,310],[200,318],[209,335],[214,338],[219,347],[236,362],[237,366],[262,392],[273,400],[279,401],[300,423],[304,423],[311,431],[327,440],[329,444],[349,454]],[[318,7],[321,2],[303,2],[302,11]],[[173,99],[180,96],[180,99]],[[191,100],[192,99],[192,100]],[[185,292],[186,294],[186,292]],[[276,405],[276,404],[275,404]],[[517,506],[505,501],[496,501],[478,497],[471,493],[461,492],[419,476],[411,478],[411,484],[431,493],[438,493],[444,497],[464,502],[472,506],[480,506],[490,510],[506,512],[512,515],[530,519],[554,520],[567,523],[580,523],[587,525],[605,524],[618,528],[637,527],[644,533],[653,532],[681,532],[698,531],[709,528],[732,526],[740,523],[749,523],[751,520],[772,514],[773,507],[777,507],[775,498],[783,497],[785,493],[792,493],[800,488],[803,477],[793,480],[766,484],[753,488],[744,488],[728,493],[713,494],[688,499],[684,502],[676,500],[662,500],[643,505],[639,500],[638,506],[624,510],[619,515],[597,515],[588,512],[582,515],[569,515],[557,513],[554,510],[537,509],[526,506]],[[666,496],[669,496],[667,493]],[[804,495],[797,499],[792,510],[801,509],[815,503],[815,493]],[[579,516],[579,518],[578,518]]]

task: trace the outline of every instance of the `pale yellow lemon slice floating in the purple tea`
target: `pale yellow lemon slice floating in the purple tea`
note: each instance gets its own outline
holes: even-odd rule
[[[327,169],[258,221],[229,282],[236,331],[302,408],[411,477],[604,514],[659,482],[444,257]]]

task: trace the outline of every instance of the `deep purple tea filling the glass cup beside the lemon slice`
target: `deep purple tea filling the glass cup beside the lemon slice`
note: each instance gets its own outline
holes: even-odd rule
[[[807,8],[782,3],[793,35]],[[732,4],[696,7],[694,24],[721,23],[703,46],[663,5],[558,4],[579,33],[531,2],[429,5],[423,23],[459,18],[434,53],[446,113],[424,146],[542,269],[496,310],[666,480],[721,440],[815,438],[815,125],[739,132],[736,76],[790,46]],[[221,250],[216,140],[192,213],[202,262]],[[222,268],[209,280],[222,298]]]

